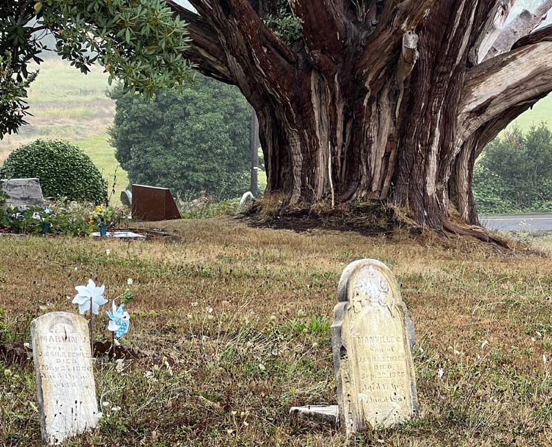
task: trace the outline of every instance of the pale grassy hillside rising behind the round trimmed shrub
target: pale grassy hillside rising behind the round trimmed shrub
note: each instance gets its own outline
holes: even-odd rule
[[[23,143],[37,138],[65,139],[90,156],[111,188],[119,163],[106,133],[115,115],[115,101],[106,96],[107,87],[107,76],[101,68],[85,75],[60,59],[44,61],[29,92],[33,116],[19,135],[8,135],[0,141],[0,163]],[[115,199],[127,184],[126,172],[117,168]]]

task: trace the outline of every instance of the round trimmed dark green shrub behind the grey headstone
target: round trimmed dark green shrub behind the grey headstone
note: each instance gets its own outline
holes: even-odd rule
[[[44,197],[105,203],[107,183],[82,150],[67,141],[37,140],[19,146],[0,169],[3,179],[38,177]]]

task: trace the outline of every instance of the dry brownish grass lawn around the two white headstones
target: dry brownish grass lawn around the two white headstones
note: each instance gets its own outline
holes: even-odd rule
[[[30,320],[43,312],[75,311],[66,296],[88,277],[106,284],[108,298],[131,277],[126,343],[175,360],[170,369],[131,361],[123,375],[111,361],[97,361],[109,416],[68,445],[552,444],[551,368],[543,361],[552,357],[550,259],[500,255],[455,238],[296,233],[230,219],[149,226],[160,225],[179,237],[0,239],[4,339],[27,341]],[[288,408],[335,401],[329,325],[337,280],[362,257],[384,261],[402,286],[417,331],[423,417],[347,441],[335,430],[295,424]],[[30,364],[0,359],[0,445],[39,444],[35,393]]]

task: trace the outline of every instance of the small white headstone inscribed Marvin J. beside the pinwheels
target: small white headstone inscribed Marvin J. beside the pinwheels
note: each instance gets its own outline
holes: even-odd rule
[[[50,312],[31,324],[32,357],[42,441],[59,444],[97,424],[88,323],[68,312]]]

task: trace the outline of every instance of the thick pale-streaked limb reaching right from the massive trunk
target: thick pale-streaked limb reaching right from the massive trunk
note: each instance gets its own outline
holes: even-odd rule
[[[514,50],[500,54],[466,72],[458,122],[464,141],[475,130],[509,110],[532,106],[552,90],[552,26],[524,38]],[[517,116],[517,115],[515,115]]]

